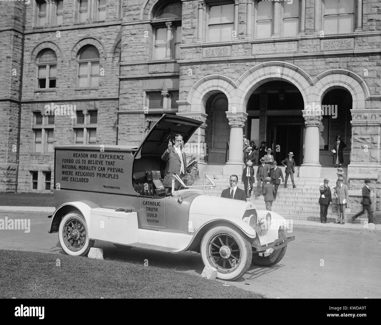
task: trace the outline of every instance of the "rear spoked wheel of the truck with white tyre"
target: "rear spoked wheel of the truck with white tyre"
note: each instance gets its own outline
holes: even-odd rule
[[[58,237],[65,253],[73,256],[86,256],[94,244],[89,239],[85,218],[77,212],[69,212],[62,218]]]

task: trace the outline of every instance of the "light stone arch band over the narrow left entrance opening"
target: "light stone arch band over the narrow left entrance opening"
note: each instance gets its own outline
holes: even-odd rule
[[[191,104],[192,112],[201,112],[205,114],[205,105],[208,98],[214,93],[224,93],[229,102],[229,110],[234,105],[234,82],[223,75],[208,75],[201,78],[189,91],[187,102]]]

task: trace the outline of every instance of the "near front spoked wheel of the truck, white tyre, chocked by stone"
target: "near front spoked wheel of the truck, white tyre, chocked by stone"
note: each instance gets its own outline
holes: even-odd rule
[[[207,231],[201,242],[201,257],[204,265],[217,270],[222,280],[235,280],[250,267],[252,250],[243,235],[227,226],[218,226]]]

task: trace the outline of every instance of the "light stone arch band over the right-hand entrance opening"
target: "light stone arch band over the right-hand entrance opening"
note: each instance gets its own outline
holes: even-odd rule
[[[365,100],[369,98],[370,92],[367,84],[357,74],[347,69],[330,69],[317,75],[314,80],[316,88],[314,101],[322,102],[328,91],[341,88],[349,91],[352,95],[352,108],[364,109]]]

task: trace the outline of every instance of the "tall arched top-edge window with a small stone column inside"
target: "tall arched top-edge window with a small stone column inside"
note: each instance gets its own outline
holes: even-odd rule
[[[152,20],[154,31],[153,59],[179,59],[181,43],[181,2],[166,3]],[[163,22],[163,19],[166,19]],[[161,19],[158,21],[158,19]]]

